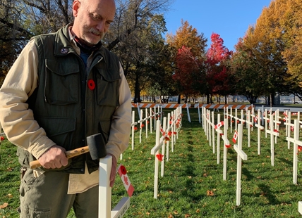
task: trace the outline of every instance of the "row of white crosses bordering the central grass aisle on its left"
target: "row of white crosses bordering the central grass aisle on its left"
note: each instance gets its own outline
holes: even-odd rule
[[[166,153],[166,161],[169,161],[169,141],[171,139],[171,152],[174,152],[176,139],[179,139],[179,129],[181,128],[182,108],[176,108],[164,117],[163,125],[157,120],[155,146],[151,150],[151,155],[155,155],[155,173],[154,173],[154,198],[158,193],[158,174],[159,161],[161,161],[161,177],[164,177],[164,154]],[[162,153],[159,153],[162,148]]]

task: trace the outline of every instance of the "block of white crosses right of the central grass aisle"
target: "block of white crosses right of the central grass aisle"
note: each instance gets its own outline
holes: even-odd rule
[[[255,115],[253,112],[250,114],[249,111],[246,112],[246,120],[243,119],[242,111],[241,111],[241,119],[237,117],[237,111],[235,111],[235,116],[231,116],[231,113],[228,114],[227,108],[224,110],[225,115],[227,117],[231,117],[234,120],[236,120],[236,126],[238,122],[241,122],[241,124],[238,124],[238,145],[234,145],[234,149],[237,152],[238,160],[237,160],[237,191],[236,191],[236,203],[237,205],[240,204],[240,198],[241,198],[241,161],[247,160],[247,155],[242,150],[242,130],[241,125],[246,122],[247,129],[248,129],[248,136],[250,129],[253,130],[253,124],[255,124],[255,127],[258,128],[258,154],[260,155],[260,139],[261,139],[261,130],[265,129],[265,136],[267,137],[267,134],[270,134],[271,138],[271,162],[272,166],[274,166],[274,143],[277,143],[277,136],[279,136],[279,124],[281,122],[279,121],[279,110],[276,110],[274,113],[272,113],[272,110],[270,110],[267,113],[267,110],[265,110],[265,113],[260,113],[260,109],[258,110],[258,115]],[[231,109],[230,109],[231,111]],[[252,110],[253,111],[253,110]],[[227,140],[227,129],[228,129],[228,120],[224,119],[224,134],[222,134],[222,130],[219,129],[220,126],[222,126],[220,123],[220,115],[217,115],[217,124],[214,123],[208,123],[211,122],[210,119],[210,112],[205,111],[203,112],[205,116],[203,116],[203,127],[208,128],[205,129],[205,132],[207,134],[207,139],[210,140],[209,143],[211,143],[211,129],[213,126],[215,126],[217,129],[217,153],[219,151],[218,145],[219,145],[219,135],[222,135],[222,139],[224,140],[224,150],[227,150],[227,145],[229,145],[229,141]],[[297,172],[298,172],[298,149],[301,150],[302,148],[298,148],[298,146],[302,147],[302,141],[299,140],[299,131],[300,127],[302,127],[302,121],[300,121],[300,113],[297,113],[297,120],[294,121],[294,124],[291,123],[291,113],[288,113],[288,111],[284,112],[285,118],[284,118],[284,124],[286,125],[286,140],[288,141],[288,148],[290,148],[290,143],[294,143],[294,149],[293,149],[293,183],[297,184]],[[212,116],[211,116],[212,117]],[[214,122],[214,119],[212,119]],[[260,121],[262,120],[262,124],[265,121],[265,127],[263,127],[260,124]],[[238,121],[238,122],[237,122]],[[232,125],[232,122],[230,122]],[[267,125],[269,124],[269,125]],[[232,129],[232,128],[231,128]],[[236,129],[236,128],[235,128]],[[294,131],[294,138],[291,138],[291,132]],[[213,135],[214,136],[214,135]],[[213,137],[212,136],[212,137]],[[248,141],[250,138],[248,137]],[[217,163],[219,163],[219,154],[217,154]],[[227,179],[227,156],[224,155],[224,180]],[[298,203],[298,210],[302,214],[302,201]]]

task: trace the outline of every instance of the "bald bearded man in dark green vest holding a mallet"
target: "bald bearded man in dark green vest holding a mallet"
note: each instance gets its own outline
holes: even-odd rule
[[[22,167],[20,217],[97,217],[98,161],[67,159],[101,133],[116,160],[131,128],[131,92],[118,58],[100,40],[114,20],[114,0],[73,1],[74,23],[34,37],[0,89],[0,122]],[[29,162],[39,160],[40,169]]]

